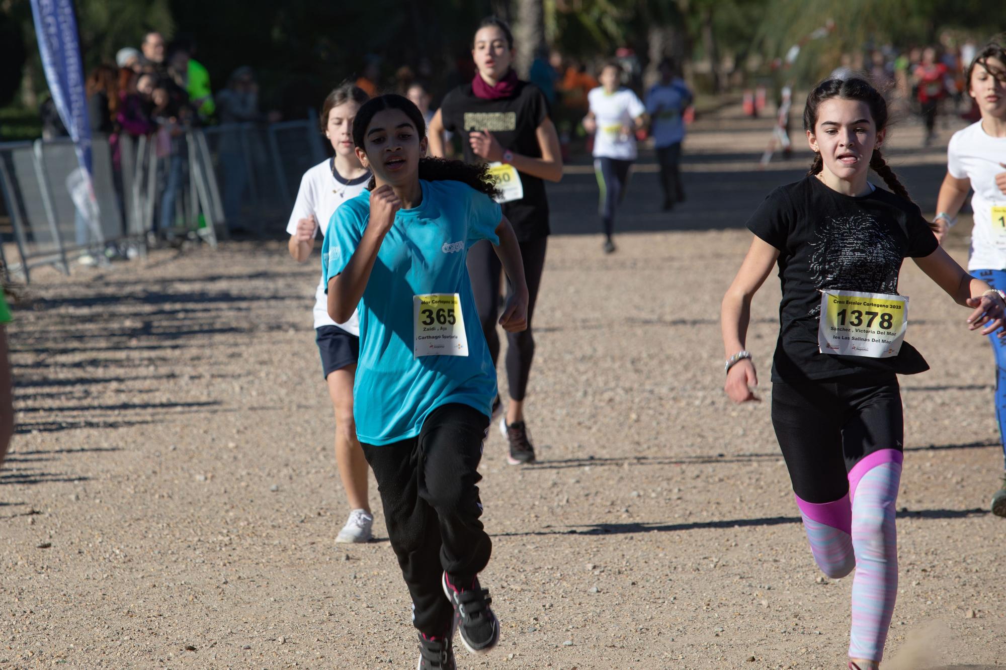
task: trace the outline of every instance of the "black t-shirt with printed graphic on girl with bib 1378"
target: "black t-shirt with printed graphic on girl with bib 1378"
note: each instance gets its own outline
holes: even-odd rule
[[[939,246],[914,203],[881,188],[861,197],[844,195],[808,176],[770,193],[747,228],[780,252],[783,300],[773,381],[929,369],[907,342],[890,358],[818,349],[820,291],[897,294],[901,261],[927,257]]]

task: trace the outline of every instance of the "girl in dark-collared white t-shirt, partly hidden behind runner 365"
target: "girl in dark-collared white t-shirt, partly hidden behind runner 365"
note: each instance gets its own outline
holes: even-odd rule
[[[320,231],[328,230],[329,219],[346,200],[366,187],[370,172],[360,165],[353,148],[353,118],[368,96],[352,83],[344,83],[328,95],[322,106],[322,131],[335,150],[333,158],[304,173],[290,214],[290,256],[304,263],[314,249]],[[337,324],[328,316],[325,283],[319,279],[315,292],[314,326],[322,372],[335,408],[335,462],[349,502],[349,518],[336,542],[368,542],[373,515],[367,498],[367,462],[356,439],[353,421],[353,381],[360,351],[360,331],[356,313],[346,323]]]

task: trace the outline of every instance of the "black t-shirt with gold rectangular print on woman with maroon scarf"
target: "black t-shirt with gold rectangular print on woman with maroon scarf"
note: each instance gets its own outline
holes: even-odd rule
[[[488,130],[504,150],[515,154],[541,158],[536,134],[538,126],[548,116],[548,103],[533,83],[519,81],[510,98],[484,100],[472,93],[472,85],[458,87],[441,104],[444,128],[461,135],[465,160],[477,163],[482,159],[472,152],[469,133]],[[503,203],[503,214],[510,219],[518,241],[530,241],[548,234],[548,200],[545,184],[538,177],[520,173],[524,197]]]

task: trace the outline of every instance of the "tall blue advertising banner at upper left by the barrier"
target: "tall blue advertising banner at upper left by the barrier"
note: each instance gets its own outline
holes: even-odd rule
[[[73,0],[31,0],[31,13],[52,102],[73,139],[80,167],[90,177],[91,124]]]

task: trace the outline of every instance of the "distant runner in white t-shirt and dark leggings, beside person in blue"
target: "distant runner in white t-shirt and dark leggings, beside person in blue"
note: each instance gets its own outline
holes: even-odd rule
[[[623,88],[622,65],[608,62],[601,86],[586,95],[590,111],[583,129],[594,133],[594,170],[601,188],[601,220],[606,254],[615,250],[615,207],[625,197],[629,168],[636,160],[636,131],[646,126],[646,107],[630,89]]]

